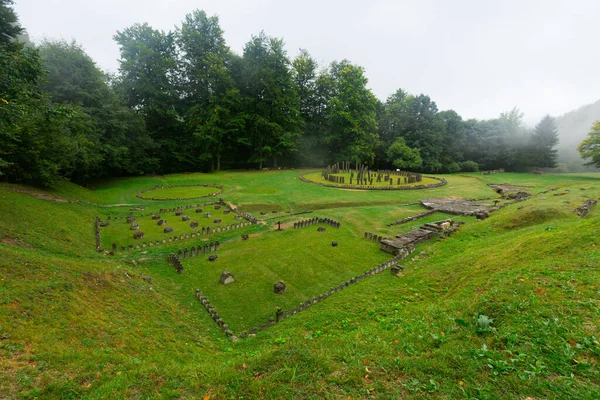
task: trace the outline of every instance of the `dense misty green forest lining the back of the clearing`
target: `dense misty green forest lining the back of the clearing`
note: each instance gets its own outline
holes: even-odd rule
[[[75,42],[30,43],[11,5],[0,0],[0,174],[11,182],[336,161],[426,173],[555,166],[550,116],[532,130],[516,108],[464,120],[424,94],[381,101],[362,67],[320,66],[305,50],[290,59],[264,32],[235,54],[203,11],[171,32],[117,32],[111,76]]]

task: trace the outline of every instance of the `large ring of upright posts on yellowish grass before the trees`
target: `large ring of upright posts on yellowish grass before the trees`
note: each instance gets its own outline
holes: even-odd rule
[[[360,190],[411,190],[443,186],[446,180],[415,172],[371,171],[365,165],[352,167],[349,162],[329,165],[320,172],[307,172],[300,180],[326,187]]]

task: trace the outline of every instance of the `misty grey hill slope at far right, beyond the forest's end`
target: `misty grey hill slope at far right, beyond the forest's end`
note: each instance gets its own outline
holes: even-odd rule
[[[598,120],[600,120],[600,100],[556,117],[560,138],[558,161],[567,164],[569,171],[581,171],[585,168],[577,146],[587,137],[594,121]]]

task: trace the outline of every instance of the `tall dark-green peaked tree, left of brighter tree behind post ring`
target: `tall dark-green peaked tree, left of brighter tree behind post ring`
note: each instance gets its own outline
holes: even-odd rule
[[[296,150],[302,120],[290,62],[283,40],[261,32],[244,47],[241,92],[246,112],[246,135],[241,142],[250,162],[277,160]]]

